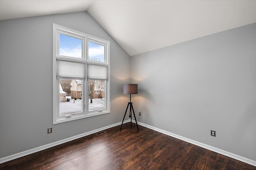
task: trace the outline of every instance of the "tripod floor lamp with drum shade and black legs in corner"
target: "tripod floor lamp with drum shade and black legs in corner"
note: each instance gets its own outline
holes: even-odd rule
[[[138,123],[137,123],[136,116],[135,116],[134,109],[133,109],[132,102],[131,102],[131,95],[138,94],[138,84],[124,84],[124,94],[130,94],[130,102],[128,102],[128,104],[127,104],[126,111],[124,113],[124,118],[125,118],[126,112],[128,110],[128,107],[130,106],[129,117],[131,118],[131,125],[132,125],[132,112],[133,112],[134,119],[135,119],[135,122],[137,125],[137,129],[139,130]],[[124,119],[122,121],[120,130],[122,128],[123,123],[124,123]]]

